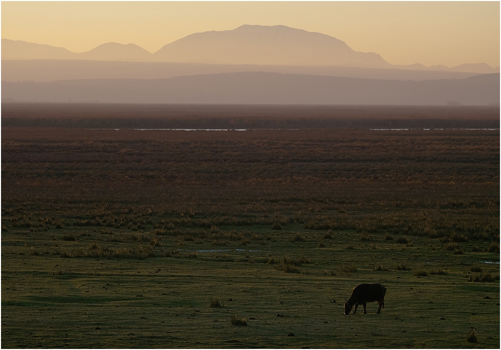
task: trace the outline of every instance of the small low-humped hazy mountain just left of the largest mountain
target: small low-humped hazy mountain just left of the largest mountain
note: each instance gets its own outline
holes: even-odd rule
[[[78,54],[79,60],[94,61],[153,61],[153,54],[135,44],[107,43]]]

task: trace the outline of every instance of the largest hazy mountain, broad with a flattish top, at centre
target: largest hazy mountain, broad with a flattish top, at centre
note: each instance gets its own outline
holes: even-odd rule
[[[243,25],[231,31],[195,33],[165,45],[153,55],[162,62],[391,66],[381,56],[353,51],[336,38],[286,26]]]

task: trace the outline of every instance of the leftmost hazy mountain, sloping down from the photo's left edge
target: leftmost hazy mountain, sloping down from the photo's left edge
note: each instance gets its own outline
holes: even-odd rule
[[[2,60],[71,60],[77,55],[65,48],[2,39]]]

